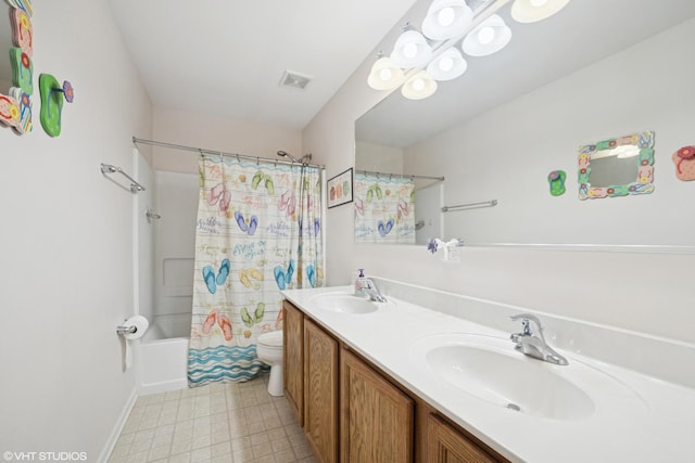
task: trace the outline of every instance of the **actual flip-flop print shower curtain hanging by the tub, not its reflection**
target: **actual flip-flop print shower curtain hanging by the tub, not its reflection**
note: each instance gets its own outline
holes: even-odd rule
[[[199,173],[190,387],[255,377],[280,291],[324,284],[318,168],[204,155]]]

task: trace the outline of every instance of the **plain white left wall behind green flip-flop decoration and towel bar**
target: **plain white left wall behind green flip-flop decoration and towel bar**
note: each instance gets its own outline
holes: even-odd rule
[[[34,131],[0,129],[0,449],[98,461],[136,390],[115,334],[136,305],[134,196],[100,163],[134,171],[151,110],[104,0],[34,11]],[[58,138],[39,123],[41,73],[75,89]]]

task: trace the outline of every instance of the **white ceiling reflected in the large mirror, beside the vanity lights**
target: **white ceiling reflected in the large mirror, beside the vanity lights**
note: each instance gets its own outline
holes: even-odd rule
[[[413,24],[419,24],[425,12],[418,11]],[[396,90],[358,119],[358,140],[409,146],[694,17],[695,1],[573,0],[533,24],[516,23],[508,7],[500,14],[513,34],[506,48],[490,56],[467,57],[466,74],[440,82],[428,99],[406,100]],[[692,56],[674,61],[679,59]],[[649,66],[649,56],[642,60]]]

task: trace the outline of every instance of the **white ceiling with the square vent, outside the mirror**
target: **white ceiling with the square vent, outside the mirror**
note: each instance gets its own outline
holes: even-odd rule
[[[155,106],[301,130],[415,0],[109,2]]]

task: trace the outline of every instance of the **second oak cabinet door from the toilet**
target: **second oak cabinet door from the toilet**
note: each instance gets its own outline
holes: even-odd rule
[[[319,462],[338,461],[338,342],[304,319],[304,433]]]

